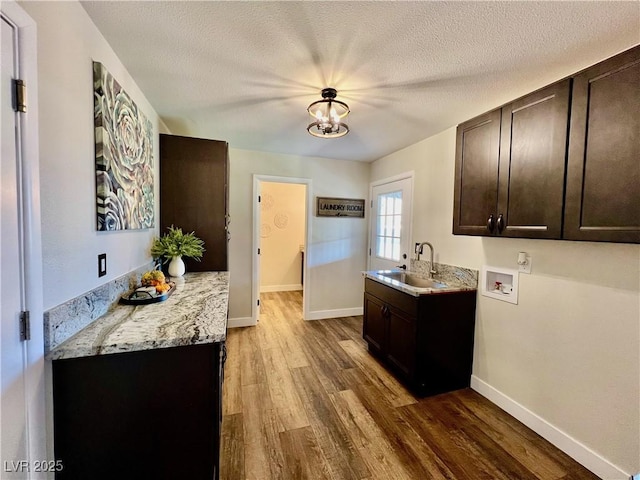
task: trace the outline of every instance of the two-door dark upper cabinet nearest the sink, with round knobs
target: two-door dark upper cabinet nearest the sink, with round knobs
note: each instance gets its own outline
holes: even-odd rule
[[[560,238],[569,85],[458,126],[453,233]]]

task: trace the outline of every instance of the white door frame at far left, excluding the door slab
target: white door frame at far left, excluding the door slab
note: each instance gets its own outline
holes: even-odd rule
[[[27,456],[31,466],[36,460],[53,459],[53,419],[45,413],[44,326],[42,322],[42,231],[40,215],[40,160],[38,132],[38,46],[35,21],[15,2],[0,4],[2,16],[18,32],[18,72],[27,85],[27,112],[18,115],[18,157],[22,204],[22,247],[24,252],[25,309],[31,314],[31,340],[26,343],[25,409],[27,418]],[[48,365],[50,369],[50,364]],[[47,399],[50,404],[52,400]],[[49,410],[51,412],[51,410]],[[30,471],[28,478],[37,473]]]

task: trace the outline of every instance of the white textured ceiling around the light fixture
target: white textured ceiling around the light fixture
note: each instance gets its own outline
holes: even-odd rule
[[[360,161],[640,43],[638,1],[82,5],[172,133]],[[306,131],[324,87],[345,137]]]

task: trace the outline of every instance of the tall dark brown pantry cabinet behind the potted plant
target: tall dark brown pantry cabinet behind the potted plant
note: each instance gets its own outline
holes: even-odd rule
[[[227,142],[160,135],[160,233],[174,225],[205,242],[188,272],[228,270],[228,179]]]

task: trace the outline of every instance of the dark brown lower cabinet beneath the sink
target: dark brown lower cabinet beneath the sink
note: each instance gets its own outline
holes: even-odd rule
[[[414,297],[365,279],[363,338],[414,393],[468,387],[473,364],[476,292]]]

